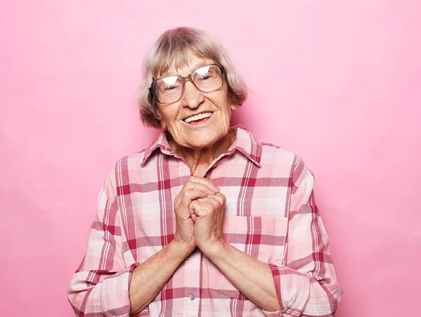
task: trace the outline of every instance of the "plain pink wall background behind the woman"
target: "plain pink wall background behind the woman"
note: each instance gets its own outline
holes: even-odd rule
[[[243,74],[234,123],[314,170],[337,316],[417,316],[420,1],[1,2],[2,316],[74,316],[102,181],[156,136],[135,106],[142,58],[179,25],[220,39]]]

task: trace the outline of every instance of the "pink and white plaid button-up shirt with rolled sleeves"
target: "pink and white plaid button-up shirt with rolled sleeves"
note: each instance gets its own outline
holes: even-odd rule
[[[283,310],[263,311],[196,249],[135,316],[333,316],[342,289],[314,203],[312,172],[297,155],[240,126],[230,133],[236,141],[203,177],[227,197],[225,241],[269,264]],[[190,175],[164,133],[116,163],[69,286],[76,316],[130,316],[133,269],[173,240],[173,201]]]

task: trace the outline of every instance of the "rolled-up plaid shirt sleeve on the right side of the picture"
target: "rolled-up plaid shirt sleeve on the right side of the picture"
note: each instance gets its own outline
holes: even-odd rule
[[[314,202],[314,176],[297,156],[291,175],[286,257],[269,264],[282,310],[267,316],[334,316],[342,288],[336,281],[328,236]]]

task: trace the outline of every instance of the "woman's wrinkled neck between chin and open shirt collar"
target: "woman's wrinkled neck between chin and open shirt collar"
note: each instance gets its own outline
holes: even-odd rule
[[[222,139],[218,140],[210,147],[204,147],[203,149],[180,147],[173,139],[168,140],[168,143],[176,154],[185,159],[192,170],[192,175],[202,176],[210,166],[210,163],[212,163],[215,158],[225,153],[231,144],[234,143],[235,139],[235,135],[227,133],[225,137],[222,137]]]

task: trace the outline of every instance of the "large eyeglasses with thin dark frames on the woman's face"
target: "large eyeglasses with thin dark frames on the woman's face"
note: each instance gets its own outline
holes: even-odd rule
[[[194,69],[189,76],[170,75],[152,81],[149,93],[160,104],[177,102],[184,93],[185,83],[192,81],[203,93],[212,93],[224,85],[225,69],[220,65],[209,64]]]

